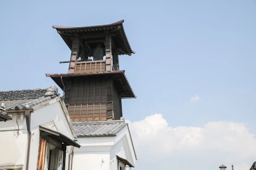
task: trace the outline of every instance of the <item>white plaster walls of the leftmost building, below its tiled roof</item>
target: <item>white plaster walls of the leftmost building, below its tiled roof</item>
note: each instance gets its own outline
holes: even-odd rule
[[[26,119],[24,114],[18,114],[18,120],[17,113],[12,115],[13,119],[11,121],[0,122],[0,150],[1,153],[4,153],[1,154],[4,157],[0,156],[0,166],[24,165],[23,169],[25,169],[28,145]],[[58,131],[70,139],[74,139],[74,137],[59,101],[34,111],[34,113],[31,113],[30,120],[31,134],[33,135],[31,135],[30,143],[29,169],[34,170],[37,166],[39,125]],[[16,121],[19,124],[20,134],[17,133],[18,125]],[[67,150],[70,150],[70,147]],[[68,154],[66,157],[68,157]],[[66,165],[68,165],[68,162],[66,162]]]

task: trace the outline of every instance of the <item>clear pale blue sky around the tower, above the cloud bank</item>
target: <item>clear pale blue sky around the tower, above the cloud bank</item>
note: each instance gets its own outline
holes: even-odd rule
[[[49,87],[45,73],[67,73],[59,62],[70,49],[52,25],[124,20],[137,53],[119,57],[120,69],[138,96],[123,100],[126,120],[160,113],[172,127],[227,121],[255,134],[255,9],[252,0],[1,1],[0,90]]]

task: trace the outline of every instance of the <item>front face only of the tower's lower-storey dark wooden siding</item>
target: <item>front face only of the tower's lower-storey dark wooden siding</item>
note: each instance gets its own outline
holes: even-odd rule
[[[107,84],[100,77],[79,78],[66,83],[65,103],[71,121],[107,120]]]

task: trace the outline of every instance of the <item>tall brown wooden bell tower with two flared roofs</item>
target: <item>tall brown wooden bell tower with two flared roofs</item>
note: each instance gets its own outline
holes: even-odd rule
[[[123,28],[123,20],[91,27],[53,26],[71,50],[68,73],[46,74],[65,92],[72,121],[119,120],[122,98],[136,98],[119,55],[135,52]]]

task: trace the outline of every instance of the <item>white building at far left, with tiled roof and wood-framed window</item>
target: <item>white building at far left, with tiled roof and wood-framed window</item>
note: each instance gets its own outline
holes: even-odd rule
[[[1,91],[0,103],[12,116],[12,120],[0,122],[0,168],[42,169],[37,166],[44,154],[44,169],[48,165],[62,169],[69,161],[70,146],[80,147],[56,87]],[[54,163],[47,164],[49,161]]]

